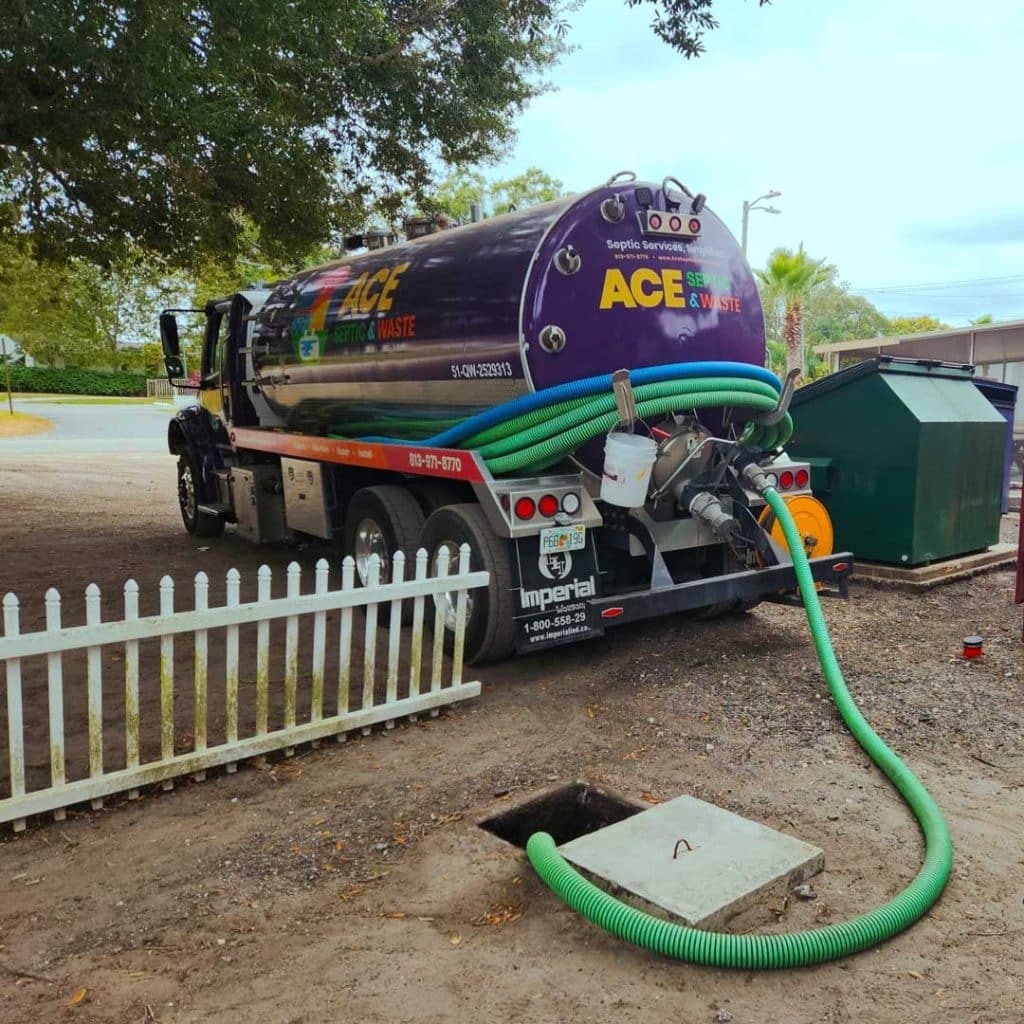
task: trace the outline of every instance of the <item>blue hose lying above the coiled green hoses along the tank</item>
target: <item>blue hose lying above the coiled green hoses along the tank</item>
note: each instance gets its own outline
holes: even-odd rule
[[[752,366],[750,362],[669,362],[660,367],[641,367],[630,371],[630,383],[636,386],[654,384],[665,380],[683,380],[689,377],[743,377],[748,380],[763,381],[770,384],[776,391],[782,390],[781,381],[764,367]],[[523,413],[529,413],[543,406],[550,406],[567,398],[585,398],[599,391],[611,390],[611,374],[600,374],[597,377],[586,377],[579,381],[568,381],[556,384],[543,391],[520,395],[511,401],[495,406],[476,416],[471,416],[462,423],[457,423],[447,430],[442,430],[433,437],[422,441],[397,440],[392,437],[360,437],[364,441],[378,441],[385,444],[423,444],[429,447],[453,447],[467,437],[511,420]]]

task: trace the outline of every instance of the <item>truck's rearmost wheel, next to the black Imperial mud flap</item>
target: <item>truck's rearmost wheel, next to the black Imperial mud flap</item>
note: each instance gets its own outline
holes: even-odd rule
[[[470,547],[470,570],[490,573],[486,587],[477,587],[466,595],[466,662],[469,665],[498,662],[515,649],[508,541],[495,535],[479,505],[469,502],[440,508],[427,519],[423,529],[431,575],[437,572],[444,547],[449,549],[449,574],[455,575],[463,544]],[[455,644],[456,598],[456,591],[434,598],[435,606],[444,611],[444,644],[449,651]],[[427,620],[432,626],[433,615],[428,614]]]

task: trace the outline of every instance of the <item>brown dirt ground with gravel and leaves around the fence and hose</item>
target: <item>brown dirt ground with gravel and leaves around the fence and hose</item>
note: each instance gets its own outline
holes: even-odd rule
[[[267,561],[280,579],[293,557],[323,554],[189,540],[166,456],[41,455],[30,468],[0,450],[0,591],[19,594],[26,630],[51,585],[77,621],[93,581],[114,602],[136,578],[144,611],[165,572],[205,569],[219,601],[232,565],[251,577]],[[567,910],[520,850],[477,827],[574,779],[647,801],[691,794],[825,852],[815,900],[779,894],[736,929],[841,921],[894,895],[920,862],[913,820],[838,723],[802,613],[763,605],[481,669],[469,676],[481,698],[441,718],[2,829],[0,1021],[690,1024],[721,1010],[735,1024],[1018,1024],[1012,590],[997,571],[916,596],[859,585],[826,605],[856,698],[955,844],[941,902],[874,950],[779,973],[669,963]],[[975,632],[985,656],[966,664],[959,641]],[[30,760],[38,771],[45,755]]]

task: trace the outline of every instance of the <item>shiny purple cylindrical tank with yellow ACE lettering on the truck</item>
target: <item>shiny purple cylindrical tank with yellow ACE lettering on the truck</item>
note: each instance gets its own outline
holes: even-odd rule
[[[762,366],[738,245],[669,199],[617,181],[281,282],[257,317],[263,393],[295,429],[415,439],[624,367]]]

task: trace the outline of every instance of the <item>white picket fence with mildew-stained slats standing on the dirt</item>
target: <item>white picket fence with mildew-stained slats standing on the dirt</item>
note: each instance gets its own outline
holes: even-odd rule
[[[315,567],[313,593],[301,593],[301,568],[296,562],[288,567],[286,596],[272,598],[271,571],[266,565],[257,573],[257,597],[255,601],[242,603],[240,600],[242,578],[237,569],[230,569],[226,577],[226,601],[223,606],[209,606],[209,579],[205,572],[196,574],[195,603],[190,611],[174,610],[174,581],[165,575],[160,582],[159,614],[139,616],[139,588],[134,580],[124,587],[124,617],[119,621],[100,621],[100,591],[90,584],[85,592],[85,625],[61,628],[60,594],[55,589],[46,592],[46,628],[37,633],[22,633],[19,630],[19,604],[14,594],[3,599],[3,632],[0,638],[0,662],[6,666],[7,689],[7,740],[10,777],[9,795],[0,799],[0,823],[13,821],[14,830],[25,827],[26,818],[33,814],[53,811],[60,820],[65,808],[83,801],[91,801],[93,807],[102,805],[104,797],[128,792],[130,798],[138,795],[141,786],[163,782],[165,788],[173,786],[173,779],[193,775],[202,779],[206,769],[226,765],[233,771],[237,763],[246,758],[267,754],[272,751],[291,753],[294,746],[303,742],[336,736],[344,739],[345,734],[355,729],[365,733],[371,726],[381,722],[390,728],[395,720],[429,712],[436,715],[437,709],[479,695],[478,682],[464,682],[463,653],[466,629],[467,593],[476,587],[487,585],[486,572],[469,570],[469,546],[460,551],[458,572],[449,575],[447,559],[439,559],[437,575],[428,577],[427,553],[419,551],[416,571],[411,580],[404,579],[404,556],[398,552],[392,559],[390,583],[380,582],[380,567],[372,559],[370,581],[366,588],[356,589],[354,564],[351,558],[342,563],[340,590],[329,589],[330,566],[321,559]],[[457,593],[455,646],[452,655],[452,670],[449,683],[444,674],[443,648],[443,600],[428,601],[434,595]],[[403,602],[413,602],[409,656],[406,666],[408,684],[399,687],[400,652],[402,637]],[[378,699],[376,690],[378,672],[378,617],[381,605],[390,608],[386,627],[387,655],[383,679],[383,699]],[[356,679],[353,668],[357,667],[357,655],[353,657],[353,632],[358,624],[353,623],[353,611],[365,610],[362,624],[362,666],[361,678]],[[427,649],[424,643],[424,618],[428,608],[433,614],[433,640],[429,682],[422,683],[423,656]],[[328,652],[328,615],[340,612],[337,629],[337,679],[332,694],[333,714],[325,708],[328,685],[326,663]],[[311,616],[311,671],[301,683],[308,687],[309,717],[297,721],[296,706],[300,686],[300,618]],[[283,724],[270,729],[269,708],[270,682],[270,624],[274,620],[285,620],[285,664],[282,710]],[[254,728],[251,735],[239,735],[239,628],[246,624],[256,624],[255,651],[255,692]],[[224,634],[224,741],[208,746],[208,701],[209,701],[209,637],[212,630],[223,629]],[[381,628],[381,639],[384,639]],[[174,643],[180,634],[195,635],[195,658],[193,672],[191,750],[175,754],[175,680]],[[160,696],[160,754],[155,760],[140,761],[140,703],[139,703],[139,642],[159,638],[159,681],[150,682],[159,686]],[[123,645],[124,653],[124,705],[123,716],[119,715],[118,728],[124,730],[125,767],[112,771],[104,770],[104,708],[102,679],[102,648]],[[66,758],[63,655],[85,651],[86,658],[86,703],[87,722],[83,725],[88,733],[88,774],[69,779]],[[49,785],[26,788],[26,733],[23,706],[23,662],[33,656],[46,659],[47,711],[49,750]],[[404,674],[403,674],[404,675]],[[358,682],[361,694],[352,692]],[[399,696],[399,689],[404,695]],[[353,701],[354,698],[354,701]],[[355,707],[352,708],[353,702]],[[38,744],[36,744],[38,746]],[[84,772],[85,765],[82,765]],[[2,783],[0,783],[2,785]]]

